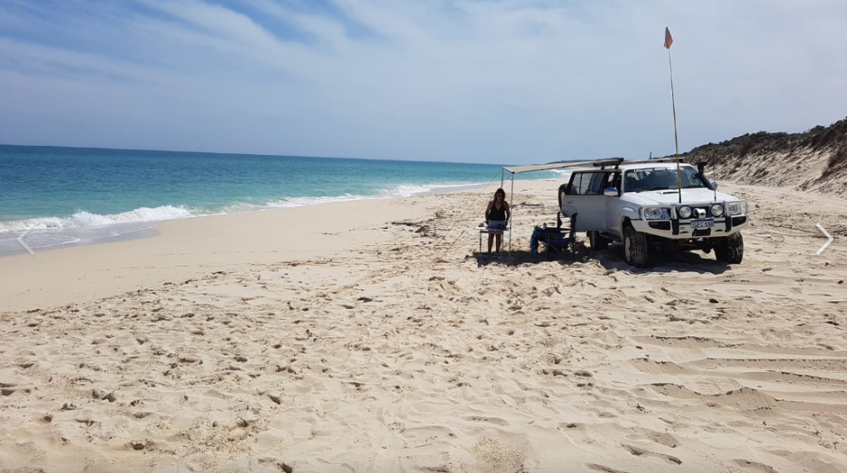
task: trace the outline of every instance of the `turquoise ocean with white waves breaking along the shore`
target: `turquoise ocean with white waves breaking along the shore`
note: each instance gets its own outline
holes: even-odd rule
[[[0,257],[163,220],[500,184],[502,165],[0,145]],[[518,178],[556,177],[555,171]],[[23,237],[23,238],[22,238]]]

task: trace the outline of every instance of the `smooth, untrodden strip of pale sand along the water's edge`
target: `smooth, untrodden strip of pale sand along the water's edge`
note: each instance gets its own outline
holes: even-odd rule
[[[425,218],[428,197],[438,201],[483,188],[174,219],[150,229],[149,238],[8,255],[0,259],[0,314],[78,304],[213,270],[343,252],[368,239],[375,244],[381,241],[379,225]]]

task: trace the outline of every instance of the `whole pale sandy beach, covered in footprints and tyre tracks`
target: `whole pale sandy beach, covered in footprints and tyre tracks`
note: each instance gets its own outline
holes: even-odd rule
[[[0,259],[0,472],[847,472],[847,199],[722,184],[744,261],[642,270],[529,255],[558,184],[510,259],[493,188]]]

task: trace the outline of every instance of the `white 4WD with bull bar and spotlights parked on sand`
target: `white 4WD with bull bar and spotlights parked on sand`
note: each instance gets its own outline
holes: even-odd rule
[[[718,192],[702,167],[663,159],[603,159],[575,168],[559,187],[559,208],[575,216],[576,232],[587,232],[592,250],[623,242],[627,263],[643,268],[655,251],[714,250],[727,263],[741,263],[741,228],[750,220],[747,203]]]

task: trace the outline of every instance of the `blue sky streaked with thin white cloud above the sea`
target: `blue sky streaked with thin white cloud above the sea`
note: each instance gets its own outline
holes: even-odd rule
[[[843,0],[3,0],[0,142],[537,163],[847,115]]]

